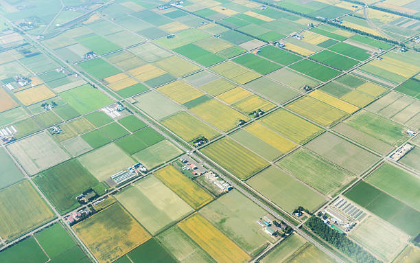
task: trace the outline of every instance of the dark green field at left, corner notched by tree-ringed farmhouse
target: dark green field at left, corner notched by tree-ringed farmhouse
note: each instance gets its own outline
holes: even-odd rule
[[[89,188],[99,195],[105,192],[104,186],[77,159],[45,170],[34,181],[60,214],[78,207],[75,197]]]

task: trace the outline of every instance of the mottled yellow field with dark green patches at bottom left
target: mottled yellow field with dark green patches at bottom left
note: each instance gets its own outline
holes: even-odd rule
[[[73,226],[100,263],[117,260],[151,237],[118,203]]]

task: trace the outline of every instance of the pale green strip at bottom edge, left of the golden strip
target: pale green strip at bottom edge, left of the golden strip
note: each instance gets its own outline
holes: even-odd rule
[[[215,263],[201,247],[178,226],[171,227],[156,237],[181,263]]]

